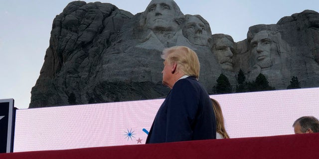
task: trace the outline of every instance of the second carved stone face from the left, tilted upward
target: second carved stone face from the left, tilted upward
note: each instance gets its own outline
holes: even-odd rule
[[[195,45],[207,46],[209,38],[207,28],[198,17],[192,15],[187,16],[185,19],[185,27],[189,42]]]

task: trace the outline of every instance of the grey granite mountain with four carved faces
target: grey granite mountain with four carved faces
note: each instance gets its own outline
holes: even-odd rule
[[[239,69],[250,80],[264,74],[276,89],[286,89],[292,76],[302,87],[319,86],[316,11],[251,26],[247,39],[235,43],[211,35],[205,19],[184,15],[172,0],[152,0],[136,15],[110,3],[73,1],[53,20],[29,108],[69,105],[74,95],[76,104],[163,98],[169,89],[161,84],[160,54],[175,45],[197,53],[209,94],[220,74],[235,86]]]

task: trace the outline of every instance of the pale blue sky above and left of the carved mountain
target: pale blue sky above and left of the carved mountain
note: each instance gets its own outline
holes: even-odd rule
[[[0,99],[13,98],[16,108],[28,108],[31,88],[40,75],[49,46],[53,19],[71,1],[0,0]],[[151,0],[100,1],[136,14],[143,12]],[[199,14],[206,19],[212,34],[228,34],[235,42],[246,39],[250,26],[276,24],[280,18],[306,9],[319,12],[319,0],[175,2],[184,14]]]

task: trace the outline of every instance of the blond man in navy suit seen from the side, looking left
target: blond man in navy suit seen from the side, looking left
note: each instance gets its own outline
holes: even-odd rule
[[[171,88],[154,119],[146,144],[216,139],[216,120],[207,91],[198,82],[196,53],[184,46],[163,51],[163,84]]]

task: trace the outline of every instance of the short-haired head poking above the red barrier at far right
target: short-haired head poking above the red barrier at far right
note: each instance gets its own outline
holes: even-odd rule
[[[319,133],[319,121],[313,116],[298,118],[294,124],[295,134]]]

